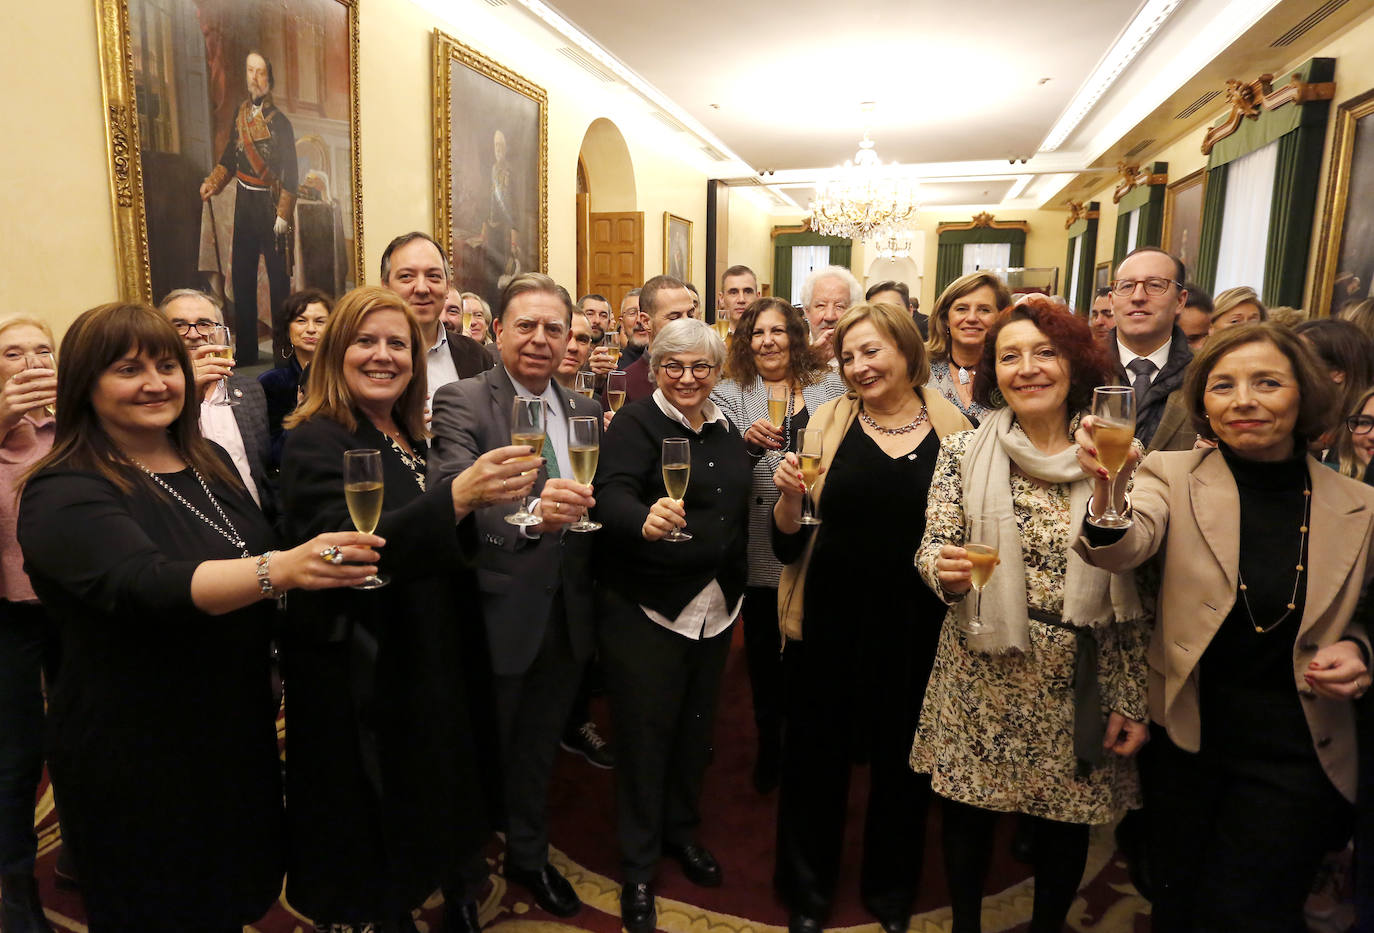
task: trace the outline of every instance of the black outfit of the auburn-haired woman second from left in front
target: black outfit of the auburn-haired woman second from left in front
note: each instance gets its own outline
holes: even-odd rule
[[[286,895],[335,923],[394,922],[471,864],[489,835],[478,767],[496,760],[478,754],[495,745],[486,646],[464,563],[475,535],[455,528],[452,481],[426,491],[423,460],[407,463],[365,419],[349,431],[316,418],[286,444],[287,536],[353,529],[344,451],[357,448],[382,451],[390,584],[294,592],[283,638]]]

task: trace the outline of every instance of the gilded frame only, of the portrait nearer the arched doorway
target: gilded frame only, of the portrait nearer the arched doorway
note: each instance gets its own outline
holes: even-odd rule
[[[441,29],[434,30],[434,239],[453,254],[451,196],[453,148],[449,136],[452,95],[448,67],[462,65],[539,104],[539,271],[548,269],[548,92],[540,85],[464,45]]]

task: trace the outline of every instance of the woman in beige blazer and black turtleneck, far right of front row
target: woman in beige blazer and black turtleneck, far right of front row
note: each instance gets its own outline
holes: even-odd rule
[[[1374,489],[1305,453],[1337,416],[1289,331],[1215,334],[1184,396],[1217,449],[1151,453],[1125,532],[1090,522],[1074,551],[1161,577],[1150,643],[1154,929],[1292,933],[1322,855],[1349,837],[1352,699],[1370,684],[1353,617],[1371,576]],[[1076,440],[1109,495],[1091,419]],[[1118,506],[1124,497],[1118,496]]]

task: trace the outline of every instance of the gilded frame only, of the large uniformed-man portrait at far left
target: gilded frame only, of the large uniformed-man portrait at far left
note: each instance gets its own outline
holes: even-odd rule
[[[348,12],[349,33],[349,161],[353,184],[353,280],[363,283],[363,168],[359,121],[359,0],[334,0]],[[120,298],[151,304],[148,216],[143,192],[142,143],[133,89],[133,45],[129,0],[95,0],[100,51],[100,96],[110,155],[110,206],[114,216]]]

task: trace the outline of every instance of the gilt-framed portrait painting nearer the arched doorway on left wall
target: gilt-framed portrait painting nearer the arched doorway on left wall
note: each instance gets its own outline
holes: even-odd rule
[[[455,287],[493,306],[548,264],[548,95],[434,30],[434,220]]]

